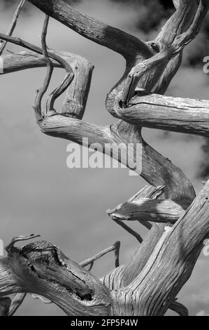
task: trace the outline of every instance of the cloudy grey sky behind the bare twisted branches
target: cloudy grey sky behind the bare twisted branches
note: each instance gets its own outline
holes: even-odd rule
[[[136,37],[152,39],[159,32],[157,22],[162,24],[168,12],[161,11],[159,7],[160,20],[153,18],[150,25],[146,21],[143,28],[142,21],[150,15],[150,7],[146,6],[146,1],[139,2],[139,5],[133,1],[127,6],[121,1],[85,0],[76,6],[80,11]],[[38,45],[44,15],[30,4],[27,6],[28,10],[18,21],[15,36]],[[6,32],[14,8],[6,9],[1,2],[0,10],[1,32]],[[186,49],[183,65],[167,95],[208,98],[209,79],[203,73],[203,57],[209,55],[206,32],[207,24],[196,41]],[[48,46],[78,53],[94,64],[83,119],[101,125],[115,122],[106,111],[105,99],[124,72],[124,59],[52,19]],[[6,49],[20,50],[11,44]],[[129,176],[127,169],[68,169],[66,147],[69,141],[43,135],[34,119],[35,90],[41,86],[44,77],[45,68],[42,68],[4,75],[0,79],[0,239],[7,244],[17,235],[40,234],[77,262],[120,240],[121,264],[125,263],[138,244],[134,237],[108,218],[106,209],[127,201],[146,182],[140,177]],[[57,86],[63,77],[62,70],[55,70],[50,88]],[[57,107],[60,104],[57,103]],[[208,176],[209,144],[206,139],[148,128],[143,129],[143,138],[185,172],[197,193],[201,190],[201,181]],[[132,227],[145,236],[145,230],[139,224],[134,223]],[[94,274],[102,277],[112,270],[113,257],[106,256],[96,263]],[[201,254],[191,279],[178,295],[189,308],[190,315],[209,314],[208,258]],[[17,315],[64,313],[53,304],[43,305],[28,296]]]

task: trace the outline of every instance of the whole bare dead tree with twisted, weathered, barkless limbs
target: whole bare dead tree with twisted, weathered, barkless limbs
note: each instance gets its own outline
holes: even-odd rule
[[[118,242],[78,265],[45,241],[15,247],[15,242],[34,236],[13,239],[6,247],[7,258],[0,260],[1,315],[13,315],[26,293],[44,296],[66,315],[155,316],[165,315],[168,309],[188,315],[187,308],[177,302],[177,296],[192,274],[203,241],[209,235],[209,182],[196,197],[185,174],[147,145],[142,128],[209,136],[208,100],[164,96],[181,65],[183,49],[201,29],[209,1],[174,0],[175,13],[158,37],[149,42],[89,18],[64,0],[29,2],[46,15],[42,47],[12,37],[12,32],[1,33],[3,41],[27,48],[22,53],[3,55],[3,74],[47,66],[47,75],[34,105],[41,131],[75,143],[82,143],[82,138],[88,138],[89,144],[103,146],[141,143],[139,174],[149,185],[127,203],[108,211],[113,220],[138,239],[138,249],[125,265],[118,263]],[[106,109],[118,119],[116,124],[96,126],[82,121],[93,66],[79,55],[47,47],[49,17],[120,53],[127,61],[122,78],[106,99]],[[66,77],[50,94],[46,109],[42,110],[41,100],[48,90],[54,67],[64,68]],[[62,111],[58,113],[55,100],[66,90]],[[104,147],[102,152],[106,152]],[[124,148],[120,161],[137,172],[137,166],[127,164],[126,152]],[[115,157],[114,152],[111,157]],[[131,231],[124,221],[145,225],[149,229],[145,239]],[[116,256],[115,269],[110,274],[97,279],[85,270],[85,266],[90,265],[91,269],[94,261],[109,251],[115,251]]]

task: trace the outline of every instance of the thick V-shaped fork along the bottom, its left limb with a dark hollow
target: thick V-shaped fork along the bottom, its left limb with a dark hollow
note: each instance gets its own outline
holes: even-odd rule
[[[17,248],[15,242],[24,237],[15,237],[6,247],[8,258],[0,260],[0,298],[35,293],[56,303],[67,315],[164,315],[168,308],[177,309],[173,301],[209,235],[208,217],[209,181],[178,222],[164,227],[164,235],[136,279],[111,292],[55,245],[42,241]],[[30,237],[34,236],[25,239]]]

